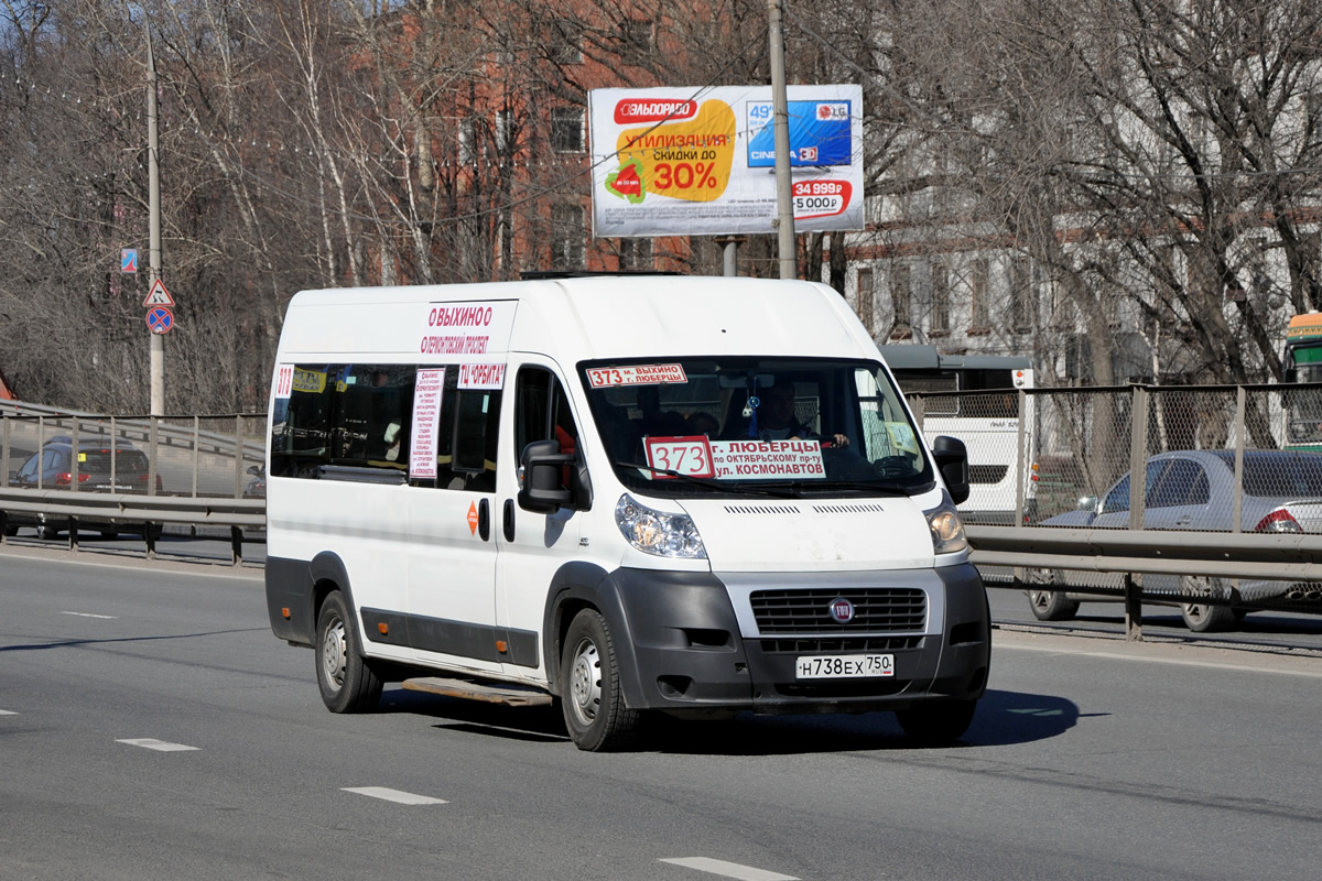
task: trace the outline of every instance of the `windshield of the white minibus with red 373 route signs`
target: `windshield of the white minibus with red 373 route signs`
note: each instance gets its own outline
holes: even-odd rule
[[[652,495],[895,495],[935,482],[876,362],[652,358],[579,371],[616,474]]]

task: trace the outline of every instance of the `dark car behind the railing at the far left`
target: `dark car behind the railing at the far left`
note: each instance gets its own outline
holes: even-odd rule
[[[75,474],[77,472],[77,474]],[[126,440],[111,440],[99,435],[78,440],[77,453],[73,439],[67,435],[52,437],[41,450],[33,453],[19,470],[9,474],[9,486],[15,489],[50,489],[79,493],[143,493],[151,486],[151,466],[147,454]],[[161,491],[160,474],[156,476],[156,491]],[[140,523],[119,523],[116,520],[79,518],[79,527],[100,532],[107,538],[123,530],[143,531]],[[52,518],[40,512],[11,511],[5,523],[5,535],[15,535],[21,526],[37,528],[37,536],[53,539],[69,530],[66,518]],[[155,527],[159,530],[160,527]]]

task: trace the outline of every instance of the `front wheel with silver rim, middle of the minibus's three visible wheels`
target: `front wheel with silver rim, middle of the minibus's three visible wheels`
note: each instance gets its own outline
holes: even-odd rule
[[[561,707],[574,744],[588,752],[631,745],[639,729],[639,711],[624,704],[611,630],[595,609],[579,612],[570,623],[561,671],[564,675]]]

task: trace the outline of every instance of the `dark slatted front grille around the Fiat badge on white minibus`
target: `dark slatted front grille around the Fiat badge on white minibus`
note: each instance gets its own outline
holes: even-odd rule
[[[754,590],[758,631],[767,634],[839,634],[859,631],[923,631],[927,593],[920,588],[802,588]],[[841,623],[832,617],[837,600],[849,600],[854,617]]]

